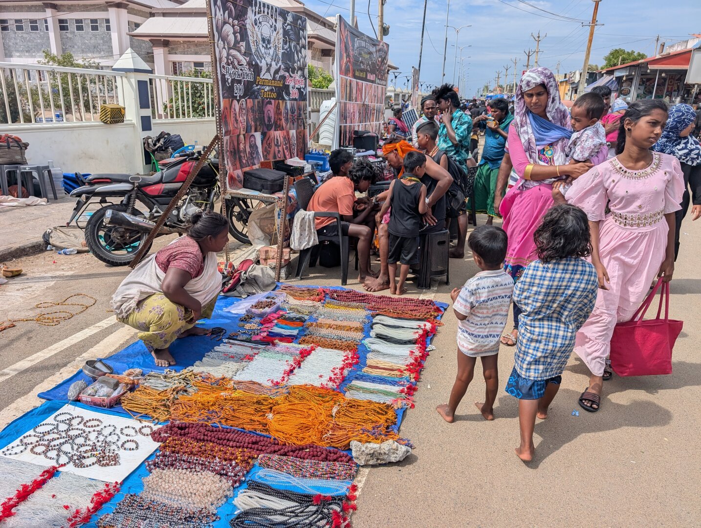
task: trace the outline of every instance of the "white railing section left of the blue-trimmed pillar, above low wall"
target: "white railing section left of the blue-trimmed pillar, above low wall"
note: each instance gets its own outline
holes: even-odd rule
[[[0,123],[100,121],[100,104],[123,104],[123,72],[0,62]]]

